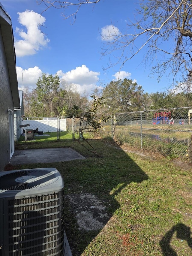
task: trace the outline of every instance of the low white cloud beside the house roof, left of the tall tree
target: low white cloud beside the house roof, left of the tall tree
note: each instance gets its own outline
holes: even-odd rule
[[[29,87],[30,90],[36,88],[36,83],[39,77],[42,75],[41,69],[39,67],[22,69],[20,67],[16,67],[17,71],[17,80],[19,90],[22,90],[22,80],[23,86]]]

